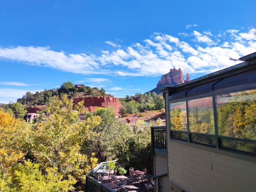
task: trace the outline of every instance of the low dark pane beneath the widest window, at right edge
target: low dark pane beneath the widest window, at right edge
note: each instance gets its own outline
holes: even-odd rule
[[[229,148],[256,154],[256,143],[234,139],[220,138],[220,148]]]

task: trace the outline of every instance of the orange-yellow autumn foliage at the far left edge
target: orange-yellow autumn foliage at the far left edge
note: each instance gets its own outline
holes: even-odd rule
[[[11,191],[12,169],[23,157],[23,134],[26,124],[0,108],[0,191]]]

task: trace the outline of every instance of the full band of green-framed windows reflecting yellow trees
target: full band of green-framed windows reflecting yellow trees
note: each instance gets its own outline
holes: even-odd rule
[[[187,102],[170,103],[171,138],[256,155],[256,89]]]

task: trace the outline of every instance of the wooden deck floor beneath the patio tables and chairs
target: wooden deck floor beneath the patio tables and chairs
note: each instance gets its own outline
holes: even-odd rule
[[[147,181],[145,183],[150,183],[151,177],[153,177],[153,176],[154,176],[153,173],[147,173],[147,177],[146,177]],[[138,182],[138,183],[131,182],[129,174],[128,175],[116,175],[116,180],[114,180],[114,181],[111,181],[111,179],[108,180],[108,176],[105,176],[103,181],[114,182],[117,185],[121,186],[123,179],[127,180],[126,190],[128,190],[130,192],[147,192],[147,189],[145,188],[145,184],[142,182]]]

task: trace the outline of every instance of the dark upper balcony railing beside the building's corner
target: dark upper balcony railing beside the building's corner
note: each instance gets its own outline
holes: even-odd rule
[[[151,127],[152,155],[155,150],[166,151],[166,127]]]

